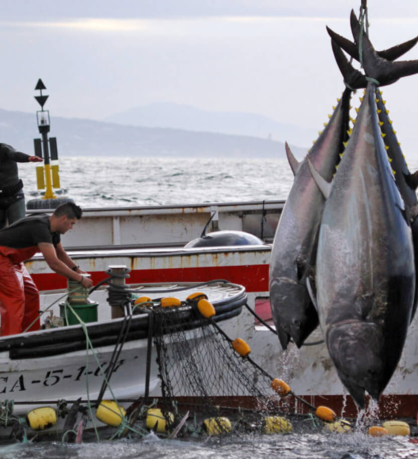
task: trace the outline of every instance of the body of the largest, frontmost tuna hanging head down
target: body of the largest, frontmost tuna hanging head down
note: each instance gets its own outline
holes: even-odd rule
[[[402,353],[415,273],[404,203],[395,185],[369,83],[328,196],[316,260],[321,328],[338,375],[361,407],[378,399]]]

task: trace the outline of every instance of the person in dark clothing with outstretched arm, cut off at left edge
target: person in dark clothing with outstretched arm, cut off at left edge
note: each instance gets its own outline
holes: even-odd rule
[[[16,163],[39,162],[39,156],[29,156],[0,143],[0,229],[23,218],[26,212],[23,182]]]

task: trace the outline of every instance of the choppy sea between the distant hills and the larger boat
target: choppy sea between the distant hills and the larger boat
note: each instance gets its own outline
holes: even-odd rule
[[[27,201],[44,193],[39,164],[19,164]],[[285,199],[293,181],[283,159],[62,158],[59,176],[56,197],[90,208]]]

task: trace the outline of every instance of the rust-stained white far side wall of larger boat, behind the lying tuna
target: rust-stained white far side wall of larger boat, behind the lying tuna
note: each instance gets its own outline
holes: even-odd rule
[[[182,247],[208,231],[244,231],[267,243],[274,238],[283,200],[83,209],[73,231],[62,237],[67,250],[109,247]],[[52,210],[31,210],[31,214]]]

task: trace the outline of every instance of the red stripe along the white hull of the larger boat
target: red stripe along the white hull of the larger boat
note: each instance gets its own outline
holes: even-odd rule
[[[91,272],[93,285],[108,275],[104,271]],[[214,279],[226,279],[243,285],[247,292],[268,291],[268,265],[251,266],[211,266],[196,268],[143,269],[133,270],[127,279],[129,284],[154,282],[206,282]],[[32,274],[39,290],[67,288],[64,277],[55,273]]]

